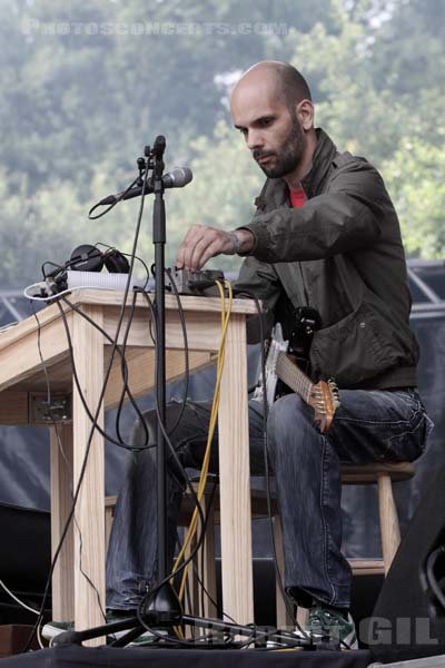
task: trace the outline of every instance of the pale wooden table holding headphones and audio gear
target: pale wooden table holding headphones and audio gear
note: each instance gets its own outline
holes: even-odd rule
[[[111,337],[120,313],[121,293],[82,289],[70,301],[89,315]],[[181,297],[190,350],[190,367],[211,362],[220,340],[219,297]],[[75,311],[63,306],[72,340],[73,358],[83,395],[96,413],[110,345],[103,335]],[[227,340],[219,405],[219,461],[221,498],[221,558],[224,610],[239,623],[254,621],[251,530],[247,419],[246,316],[255,304],[234,299]],[[128,316],[128,307],[126,317]],[[47,384],[40,350],[47,367],[51,394],[72,393],[72,422],[51,428],[51,541],[59,543],[72,505],[86,456],[91,422],[73,384],[66,331],[57,304],[0,334],[0,423],[31,424],[30,400],[46,394]],[[184,373],[184,338],[176,299],[166,298],[167,377]],[[123,321],[125,331],[126,320]],[[120,337],[121,340],[121,337]],[[149,311],[139,295],[127,342],[129,385],[140,396],[154,385],[154,348],[149,335]],[[121,391],[120,361],[113,361],[111,376],[99,410],[117,405]],[[103,623],[105,609],[105,481],[103,439],[95,431],[76,505],[75,522],[63,542],[52,578],[55,620],[73,619],[78,630]],[[87,577],[93,583],[88,582]],[[100,599],[100,606],[98,602]],[[93,644],[93,641],[91,641]],[[96,642],[98,644],[98,642]]]

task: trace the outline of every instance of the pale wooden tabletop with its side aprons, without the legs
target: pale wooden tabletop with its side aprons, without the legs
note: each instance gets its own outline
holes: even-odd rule
[[[103,327],[113,336],[123,293],[116,291],[101,291],[82,288],[69,295],[69,301],[76,306],[103,307]],[[151,295],[154,298],[154,295]],[[127,304],[131,305],[132,295],[128,296]],[[211,365],[215,361],[215,345],[218,343],[216,328],[219,328],[221,299],[219,297],[181,296],[181,306],[186,315],[187,331],[190,330],[189,367],[197,371]],[[70,318],[72,312],[68,304],[61,302],[60,306]],[[226,299],[227,306],[227,299]],[[253,315],[257,313],[255,302],[251,299],[234,299],[233,314]],[[178,318],[178,305],[175,295],[166,295],[166,317],[176,327],[176,334],[170,337],[171,348],[166,352],[166,377],[174,381],[184,375],[186,361],[184,355],[182,334]],[[65,326],[59,306],[48,305],[38,313],[40,325],[34,316],[18,323],[13,327],[0,333],[0,423],[17,424],[26,421],[28,415],[28,393],[47,392],[47,379],[51,393],[67,393],[72,391],[72,364]],[[129,385],[135,397],[149,392],[155,384],[155,352],[148,335],[149,311],[147,301],[138,295],[135,312],[135,334],[129,338],[126,348],[126,361],[129,371]],[[212,325],[210,327],[210,318]],[[40,344],[46,360],[46,372],[38,350],[38,330],[40,326]],[[70,328],[72,324],[70,323]],[[210,334],[210,330],[212,333]],[[123,327],[122,327],[123,330]],[[212,346],[209,338],[212,336]],[[141,346],[140,340],[147,342]],[[138,341],[136,341],[138,338]],[[197,340],[202,344],[198,345]],[[106,342],[108,343],[108,342]],[[167,336],[167,346],[169,335]],[[149,347],[151,346],[151,347]],[[109,363],[110,346],[105,348],[105,369]],[[106,407],[117,405],[121,394],[120,356],[116,354],[111,375],[107,386]],[[16,422],[13,422],[16,420]]]

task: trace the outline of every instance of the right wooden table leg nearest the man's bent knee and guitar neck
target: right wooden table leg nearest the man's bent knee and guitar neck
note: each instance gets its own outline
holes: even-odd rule
[[[230,316],[219,404],[222,609],[254,621],[246,324]]]

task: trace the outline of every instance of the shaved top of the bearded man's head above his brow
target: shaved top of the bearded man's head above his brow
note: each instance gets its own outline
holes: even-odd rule
[[[288,62],[264,60],[250,67],[233,90],[233,97],[239,92],[260,87],[268,96],[278,97],[289,110],[301,100],[312,100],[306,79]]]

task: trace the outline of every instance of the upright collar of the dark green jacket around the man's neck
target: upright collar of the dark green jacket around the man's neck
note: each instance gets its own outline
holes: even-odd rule
[[[337,148],[322,128],[316,128],[317,146],[309,171],[301,179],[301,186],[308,198],[318,195],[329,173]],[[274,209],[288,204],[289,190],[283,178],[268,178],[255,204],[260,210]]]

